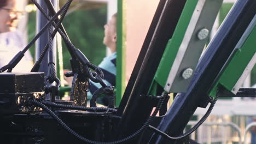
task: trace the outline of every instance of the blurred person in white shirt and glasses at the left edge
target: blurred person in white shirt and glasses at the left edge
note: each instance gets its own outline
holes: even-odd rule
[[[0,0],[0,68],[7,65],[26,46],[25,40],[16,30],[22,15],[22,11],[17,10],[16,1],[18,0]],[[32,67],[33,58],[27,51],[13,72],[28,72]]]

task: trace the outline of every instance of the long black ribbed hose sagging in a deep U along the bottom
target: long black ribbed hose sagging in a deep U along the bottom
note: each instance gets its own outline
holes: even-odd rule
[[[57,120],[58,123],[61,124],[61,126],[66,129],[70,134],[74,135],[75,137],[77,137],[80,140],[83,140],[86,143],[91,143],[91,144],[117,144],[117,143],[123,143],[125,141],[128,141],[130,139],[133,139],[135,136],[137,136],[139,133],[141,133],[142,131],[144,131],[149,124],[152,123],[154,117],[156,116],[156,114],[158,113],[158,111],[161,109],[162,104],[164,103],[165,99],[167,98],[167,93],[163,92],[161,95],[161,98],[158,101],[158,105],[156,106],[156,109],[154,110],[152,116],[150,116],[147,121],[142,125],[141,128],[139,128],[139,130],[137,130],[135,133],[133,133],[130,136],[125,137],[124,139],[121,140],[117,140],[117,141],[112,141],[112,142],[99,142],[99,141],[92,141],[89,139],[86,139],[83,136],[80,136],[79,134],[77,134],[74,130],[72,130],[71,128],[69,128],[67,126],[67,124],[65,124],[53,111],[51,111],[47,106],[45,106],[44,104],[40,103],[39,101],[37,101],[36,99],[31,100],[31,103],[34,105],[37,105],[39,107],[41,107],[42,109],[44,109],[46,112],[49,113],[50,116],[52,116],[53,118],[55,118]]]

